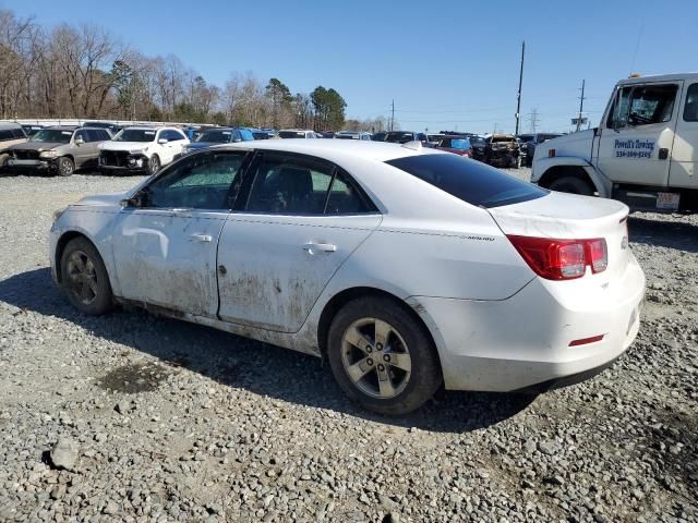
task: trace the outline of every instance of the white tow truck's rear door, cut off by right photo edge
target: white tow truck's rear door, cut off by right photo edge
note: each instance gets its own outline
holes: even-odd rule
[[[671,153],[669,184],[672,187],[698,188],[698,83],[687,86],[682,96]]]

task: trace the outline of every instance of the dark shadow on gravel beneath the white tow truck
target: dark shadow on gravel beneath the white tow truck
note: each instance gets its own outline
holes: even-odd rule
[[[669,221],[661,217],[650,220],[630,215],[628,232],[631,243],[698,253],[698,226],[687,221]]]

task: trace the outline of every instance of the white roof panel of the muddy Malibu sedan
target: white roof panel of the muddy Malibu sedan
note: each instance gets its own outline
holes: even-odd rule
[[[342,157],[359,157],[366,160],[388,161],[405,156],[420,154],[448,154],[429,147],[406,147],[407,144],[390,144],[385,142],[344,141],[344,139],[273,139],[255,141],[216,146],[217,148],[243,148],[258,150],[280,150],[317,156],[327,160],[339,161]]]

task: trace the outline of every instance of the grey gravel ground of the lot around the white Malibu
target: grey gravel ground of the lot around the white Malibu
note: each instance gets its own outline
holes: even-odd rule
[[[0,179],[0,521],[698,520],[697,216],[630,218],[649,289],[613,368],[385,419],[313,357],[76,314],[50,281],[51,214],[136,182]]]

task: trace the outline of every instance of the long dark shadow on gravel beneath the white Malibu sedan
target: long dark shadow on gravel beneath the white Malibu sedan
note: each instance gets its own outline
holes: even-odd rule
[[[100,317],[82,315],[56,289],[48,268],[0,281],[0,302],[10,304],[12,314],[31,312],[70,321],[105,340],[229,387],[406,428],[474,430],[516,415],[535,399],[530,394],[449,391],[417,413],[388,418],[351,403],[335,384],[327,364],[316,357],[185,321],[157,318],[142,311],[116,311]],[[119,370],[106,369],[105,375]]]

